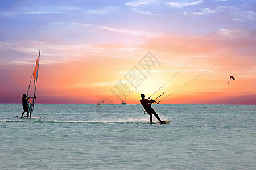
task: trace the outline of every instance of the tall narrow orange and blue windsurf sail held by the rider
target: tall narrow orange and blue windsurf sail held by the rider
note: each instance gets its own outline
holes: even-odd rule
[[[32,112],[34,111],[34,101],[36,99],[36,84],[38,82],[38,70],[39,70],[39,57],[40,57],[40,50],[38,54],[38,59],[36,59],[36,66],[35,69],[31,75],[30,84],[28,86],[27,90],[27,96],[30,96],[31,98],[28,99],[27,105],[28,105],[28,111],[30,112],[30,116]]]

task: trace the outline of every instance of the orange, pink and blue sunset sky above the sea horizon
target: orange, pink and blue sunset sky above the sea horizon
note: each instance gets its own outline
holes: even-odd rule
[[[35,103],[139,104],[169,80],[151,99],[256,104],[255,17],[253,0],[1,1],[0,103],[21,103],[40,49]]]

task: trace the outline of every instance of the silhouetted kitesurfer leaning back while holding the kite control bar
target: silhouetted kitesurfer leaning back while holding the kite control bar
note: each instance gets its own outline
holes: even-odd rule
[[[144,107],[145,111],[147,112],[147,114],[150,116],[150,123],[152,124],[152,114],[154,114],[154,116],[158,119],[158,121],[161,124],[164,124],[164,121],[161,121],[160,117],[158,116],[158,114],[155,112],[155,110],[151,107],[151,103],[154,103],[155,100],[148,100],[145,99],[145,95],[141,94],[141,105]]]

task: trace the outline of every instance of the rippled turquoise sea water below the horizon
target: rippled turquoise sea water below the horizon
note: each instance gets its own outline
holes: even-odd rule
[[[256,105],[152,107],[0,104],[0,169],[256,169]]]

